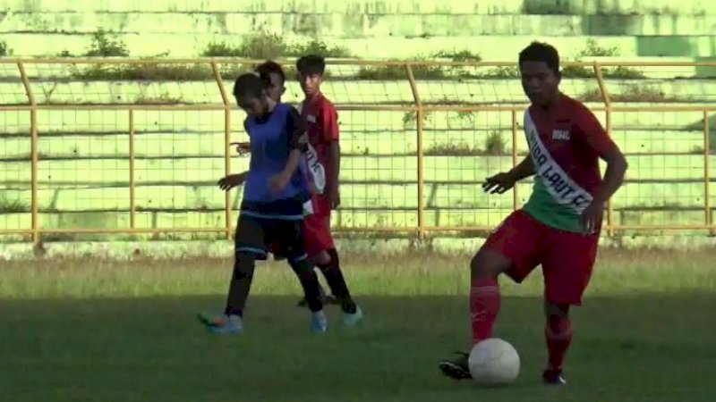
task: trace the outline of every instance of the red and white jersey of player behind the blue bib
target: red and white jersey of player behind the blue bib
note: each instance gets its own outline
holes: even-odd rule
[[[316,190],[322,193],[326,172],[337,168],[328,165],[328,146],[338,140],[338,113],[326,96],[318,94],[311,103],[303,101],[301,116],[312,148],[307,156],[309,171]]]

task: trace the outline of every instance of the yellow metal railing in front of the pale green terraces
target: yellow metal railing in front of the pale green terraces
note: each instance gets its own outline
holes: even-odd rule
[[[220,67],[225,64],[256,64],[261,63],[259,60],[236,60],[221,58],[203,58],[203,59],[0,59],[0,67],[6,67],[8,64],[14,64],[20,75],[20,80],[27,96],[26,105],[0,105],[0,113],[3,112],[27,112],[30,113],[30,166],[31,166],[31,200],[30,214],[31,227],[27,229],[0,229],[0,234],[16,234],[30,235],[33,242],[38,243],[44,234],[57,233],[200,233],[200,232],[216,232],[223,233],[226,238],[231,238],[234,230],[234,221],[232,219],[232,205],[230,195],[227,192],[225,198],[225,224],[221,227],[214,228],[138,228],[136,223],[136,196],[135,196],[135,122],[134,115],[136,111],[223,111],[224,113],[224,170],[226,174],[231,172],[231,149],[229,143],[232,136],[232,111],[236,108],[233,99],[226,93],[226,88],[221,77]],[[203,64],[212,71],[213,80],[217,83],[217,90],[221,96],[220,104],[201,104],[201,105],[53,105],[38,104],[33,88],[30,82],[29,74],[26,67],[30,64],[93,64],[93,65],[112,65],[112,64]],[[284,64],[287,61],[282,62]],[[456,63],[456,62],[388,62],[388,61],[355,61],[355,60],[335,60],[329,61],[330,65],[352,65],[352,66],[393,66],[405,69],[405,80],[410,84],[413,94],[413,105],[351,105],[338,104],[338,111],[395,111],[416,113],[416,130],[417,138],[417,194],[418,199],[417,224],[414,227],[370,227],[370,228],[337,228],[337,230],[345,230],[350,232],[409,232],[417,236],[424,236],[429,232],[447,232],[447,231],[473,231],[473,230],[490,230],[490,226],[429,226],[425,222],[424,213],[424,197],[423,189],[425,187],[424,175],[424,145],[423,145],[423,120],[426,113],[433,112],[484,112],[484,113],[510,113],[511,115],[511,131],[512,131],[512,164],[518,163],[517,138],[518,138],[518,113],[524,112],[525,105],[436,105],[426,104],[422,101],[421,94],[416,79],[415,69],[418,67],[515,67],[514,63]],[[716,230],[716,226],[712,222],[710,195],[710,172],[709,172],[709,155],[710,141],[709,125],[710,113],[716,112],[716,105],[650,105],[650,106],[630,106],[615,105],[611,101],[609,91],[605,85],[603,69],[608,67],[708,67],[716,68],[716,63],[565,63],[565,66],[586,67],[592,69],[593,77],[597,80],[600,92],[601,103],[599,107],[592,107],[594,112],[606,113],[606,130],[611,133],[613,113],[641,113],[641,112],[699,112],[703,113],[703,157],[704,157],[704,177],[703,190],[705,200],[703,205],[704,220],[701,224],[663,224],[663,225],[632,225],[618,224],[614,221],[614,206],[609,200],[606,225],[604,226],[609,236],[614,236],[619,230]],[[449,80],[446,77],[445,80]],[[517,85],[517,84],[516,84]],[[129,172],[127,172],[129,180],[129,197],[130,197],[130,225],[124,229],[82,229],[82,228],[43,228],[39,221],[38,212],[38,111],[44,110],[114,110],[125,111],[128,121],[129,130]],[[513,207],[519,206],[519,195],[517,187],[513,189]]]

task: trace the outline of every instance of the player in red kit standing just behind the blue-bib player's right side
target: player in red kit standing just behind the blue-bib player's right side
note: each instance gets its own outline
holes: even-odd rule
[[[306,251],[326,277],[328,288],[345,313],[344,322],[353,324],[362,320],[362,311],[355,306],[345,284],[333,236],[330,232],[331,211],[340,205],[338,173],[340,147],[338,145],[338,113],[336,107],[320,91],[326,61],[319,55],[305,55],[296,61],[298,80],[305,99],[301,115],[308,133],[309,149],[306,153],[308,174],[314,185],[313,214],[303,221]],[[305,300],[299,301],[303,306]]]

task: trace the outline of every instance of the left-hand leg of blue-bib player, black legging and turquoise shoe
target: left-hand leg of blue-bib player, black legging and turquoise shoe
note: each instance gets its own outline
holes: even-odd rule
[[[202,323],[214,333],[243,331],[243,309],[251,290],[256,259],[266,258],[264,230],[260,220],[241,215],[234,240],[234,271],[229,281],[224,314],[199,314]]]

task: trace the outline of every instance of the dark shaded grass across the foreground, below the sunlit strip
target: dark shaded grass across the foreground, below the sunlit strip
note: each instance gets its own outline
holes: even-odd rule
[[[296,297],[252,297],[246,332],[209,335],[195,320],[223,297],[12,300],[2,303],[0,389],[8,400],[551,401],[541,300],[505,297],[495,336],[522,356],[509,389],[440,377],[469,345],[466,297],[361,297],[366,321],[308,332]],[[592,297],[575,312],[569,389],[579,400],[709,400],[716,295]],[[337,308],[329,308],[332,322]],[[606,389],[597,385],[609,384]],[[472,397],[471,397],[472,396]]]

